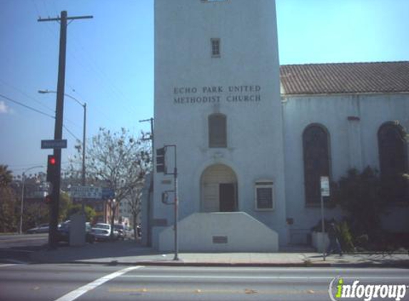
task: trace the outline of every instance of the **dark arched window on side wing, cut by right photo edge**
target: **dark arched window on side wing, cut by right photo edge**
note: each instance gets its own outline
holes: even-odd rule
[[[397,123],[388,122],[378,131],[380,178],[383,196],[390,202],[408,200],[408,184],[403,178],[408,173],[408,153],[405,130]]]

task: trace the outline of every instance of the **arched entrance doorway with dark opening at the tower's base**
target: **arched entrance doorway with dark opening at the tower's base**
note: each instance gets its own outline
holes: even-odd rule
[[[202,212],[237,211],[236,173],[226,165],[211,165],[201,176]]]

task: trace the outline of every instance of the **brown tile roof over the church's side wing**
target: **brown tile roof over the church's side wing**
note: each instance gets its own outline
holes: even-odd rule
[[[283,94],[409,92],[409,61],[282,65]]]

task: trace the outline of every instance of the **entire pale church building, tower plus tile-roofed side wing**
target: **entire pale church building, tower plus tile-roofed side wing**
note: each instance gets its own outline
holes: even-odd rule
[[[320,176],[408,172],[409,62],[280,66],[276,26],[273,0],[155,1],[154,148],[169,147],[143,205],[153,248],[173,250],[175,167],[181,251],[306,244]],[[406,196],[385,228],[409,229]]]

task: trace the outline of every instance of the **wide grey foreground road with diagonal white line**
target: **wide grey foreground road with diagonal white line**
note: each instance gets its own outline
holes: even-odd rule
[[[330,300],[328,285],[337,276],[409,285],[409,270],[387,268],[0,265],[0,300],[318,301]]]

